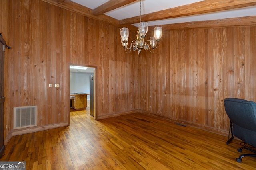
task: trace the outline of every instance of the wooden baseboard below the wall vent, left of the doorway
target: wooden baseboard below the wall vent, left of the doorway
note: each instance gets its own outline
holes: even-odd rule
[[[17,129],[17,130],[12,131],[12,136],[23,135],[26,133],[33,133],[33,132],[38,132],[38,131],[44,131],[44,130],[54,129],[54,128],[58,128],[58,127],[64,127],[64,126],[68,126],[68,122],[57,123],[57,124],[46,125],[46,126],[30,127],[30,128],[26,128],[26,129]]]

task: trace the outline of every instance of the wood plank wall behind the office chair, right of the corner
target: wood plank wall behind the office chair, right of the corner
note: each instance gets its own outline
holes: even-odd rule
[[[164,31],[140,58],[140,109],[228,130],[224,98],[256,101],[255,40],[255,26]]]

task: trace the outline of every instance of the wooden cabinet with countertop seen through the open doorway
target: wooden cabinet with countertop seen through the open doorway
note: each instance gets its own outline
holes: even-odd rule
[[[87,95],[88,93],[71,93],[70,94],[72,97],[72,107],[75,110],[82,110],[82,109],[86,109],[87,107]]]

